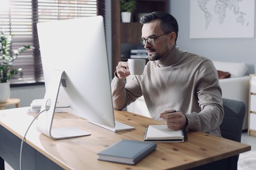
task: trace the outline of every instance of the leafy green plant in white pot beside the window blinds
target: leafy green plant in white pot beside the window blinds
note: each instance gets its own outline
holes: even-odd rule
[[[13,75],[18,73],[18,69],[12,68],[12,63],[20,55],[33,46],[24,45],[18,50],[11,50],[12,35],[5,35],[0,32],[0,103],[5,103],[10,98],[10,82]]]

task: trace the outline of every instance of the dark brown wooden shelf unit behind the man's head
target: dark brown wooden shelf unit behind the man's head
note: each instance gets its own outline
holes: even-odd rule
[[[112,76],[116,66],[124,58],[129,57],[129,51],[139,45],[142,25],[139,23],[139,15],[154,11],[166,11],[167,0],[137,0],[137,8],[132,13],[132,22],[121,22],[120,1],[112,0]]]

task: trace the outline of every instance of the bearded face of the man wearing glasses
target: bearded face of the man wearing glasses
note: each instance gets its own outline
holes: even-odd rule
[[[163,35],[164,34],[164,35]],[[144,48],[148,52],[148,59],[150,61],[161,59],[171,50],[175,45],[175,37],[173,37],[175,33],[166,33],[160,27],[160,20],[154,20],[150,23],[144,24],[142,27],[142,39],[154,38],[154,43],[149,43],[146,41]],[[158,37],[161,35],[160,37]]]

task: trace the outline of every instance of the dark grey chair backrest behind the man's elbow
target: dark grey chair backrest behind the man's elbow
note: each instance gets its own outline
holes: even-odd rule
[[[241,142],[245,116],[245,104],[242,101],[223,98],[224,118],[220,126],[225,139]]]

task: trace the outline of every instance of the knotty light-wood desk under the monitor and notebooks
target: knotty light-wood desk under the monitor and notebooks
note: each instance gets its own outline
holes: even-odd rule
[[[22,139],[34,117],[34,114],[29,115],[26,113],[27,109],[1,110],[0,124],[3,129],[7,129],[7,131]],[[47,169],[48,163],[56,163],[56,168],[62,167],[63,169],[188,169],[251,150],[251,146],[247,144],[236,143],[202,132],[190,132],[188,133],[188,141],[185,143],[158,143],[156,150],[135,166],[98,161],[97,153],[110,146],[110,144],[116,143],[120,139],[143,141],[144,131],[148,125],[163,124],[163,122],[154,121],[150,118],[125,111],[115,111],[115,116],[119,122],[134,126],[136,130],[113,133],[76,116],[61,113],[56,114],[53,123],[54,126],[73,125],[91,131],[91,135],[54,141],[39,133],[36,130],[36,125],[33,124],[26,137],[26,143],[28,143],[26,147],[35,149],[36,154],[39,152],[43,154],[43,157],[47,158],[41,163],[45,169]],[[0,129],[0,131],[3,130]],[[3,155],[1,147],[10,147],[5,146],[5,144],[9,144],[10,142],[3,143],[4,141],[6,140],[3,140],[3,137],[1,137],[0,156],[6,160],[5,157],[8,156]],[[20,142],[18,146],[15,146],[18,150],[16,154],[19,154],[19,146]],[[24,148],[24,150],[28,150],[28,148]],[[15,157],[14,151],[9,154]],[[34,156],[35,154],[32,155]],[[19,155],[16,157],[19,158]],[[8,160],[6,161],[9,163]],[[24,158],[22,162],[24,162],[22,165],[25,165],[26,163],[40,163],[42,161],[39,158],[35,162],[28,161]],[[11,162],[10,165],[15,166],[16,163]]]

